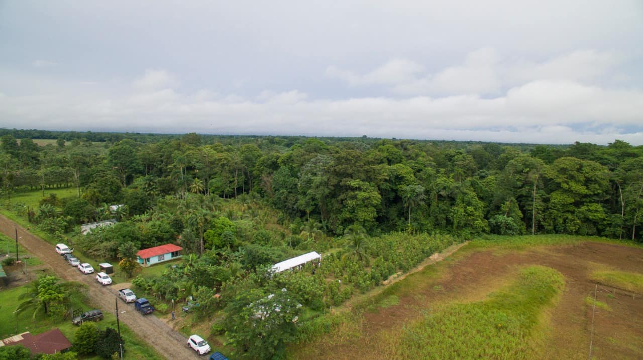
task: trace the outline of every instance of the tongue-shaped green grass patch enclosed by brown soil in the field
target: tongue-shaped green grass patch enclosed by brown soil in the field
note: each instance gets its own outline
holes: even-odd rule
[[[530,266],[489,299],[446,307],[407,324],[396,337],[397,359],[528,359],[530,335],[565,282],[558,271]]]

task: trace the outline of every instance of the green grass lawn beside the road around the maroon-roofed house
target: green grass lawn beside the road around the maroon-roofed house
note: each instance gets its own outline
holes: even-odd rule
[[[34,318],[33,311],[25,311],[19,316],[15,316],[14,310],[20,304],[21,300],[18,300],[18,296],[24,293],[24,286],[15,287],[13,289],[0,291],[0,337],[7,338],[14,334],[19,334],[21,332],[29,331],[32,334],[40,334],[47,330],[54,328],[60,329],[63,334],[71,341],[74,342],[75,333],[78,329],[77,326],[71,323],[71,320],[54,320],[49,318],[44,311],[37,313]],[[82,304],[81,300],[72,298],[73,306],[75,309],[82,307],[83,309],[89,310],[91,306]],[[98,329],[105,329],[106,327],[113,327],[116,329],[116,316],[111,313],[104,313],[105,319],[103,321],[98,321],[96,325]],[[161,359],[162,356],[154,350],[154,348],[147,345],[145,342],[138,339],[136,334],[132,332],[127,326],[121,324],[121,334],[125,340],[127,346],[127,352],[125,352],[125,359]],[[100,357],[91,356],[91,357],[79,357],[80,359],[91,359],[98,360]]]

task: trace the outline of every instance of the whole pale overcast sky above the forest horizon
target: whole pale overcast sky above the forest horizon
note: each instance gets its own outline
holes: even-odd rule
[[[0,128],[643,144],[643,1],[0,0]]]

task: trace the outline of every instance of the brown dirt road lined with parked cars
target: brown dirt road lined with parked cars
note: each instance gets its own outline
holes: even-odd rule
[[[116,309],[114,299],[118,291],[111,286],[101,286],[95,280],[95,273],[83,275],[77,268],[69,264],[58,255],[54,246],[40,237],[28,232],[14,221],[0,215],[0,231],[11,238],[15,238],[15,229],[18,230],[19,243],[24,246],[42,262],[51,267],[51,269],[64,280],[73,280],[87,284],[89,287],[88,295],[93,304],[105,312],[115,314]],[[116,284],[118,287],[118,284]],[[179,332],[170,329],[166,323],[156,318],[156,316],[143,316],[134,311],[133,304],[125,304],[119,300],[118,310],[119,318],[132,331],[147,341],[152,347],[167,359],[199,359],[192,349],[186,346],[187,339]]]

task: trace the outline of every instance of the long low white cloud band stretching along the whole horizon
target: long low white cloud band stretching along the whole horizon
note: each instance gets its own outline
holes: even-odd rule
[[[494,61],[489,57],[467,58],[464,65]],[[389,67],[392,68],[395,67]],[[168,78],[167,73],[157,76],[159,73],[164,72],[150,75],[148,71],[134,82]],[[382,75],[377,81],[390,83],[394,78]],[[606,89],[572,80],[530,81],[491,97],[458,94],[345,99],[314,98],[299,90],[266,90],[250,97],[219,95],[208,89],[181,92],[161,89],[168,81],[143,82],[149,86],[108,96],[87,87],[79,88],[75,96],[5,93],[0,96],[0,126],[10,127],[9,119],[20,119],[24,128],[52,130],[367,134],[410,139],[599,144],[622,139],[643,144],[643,91]]]

